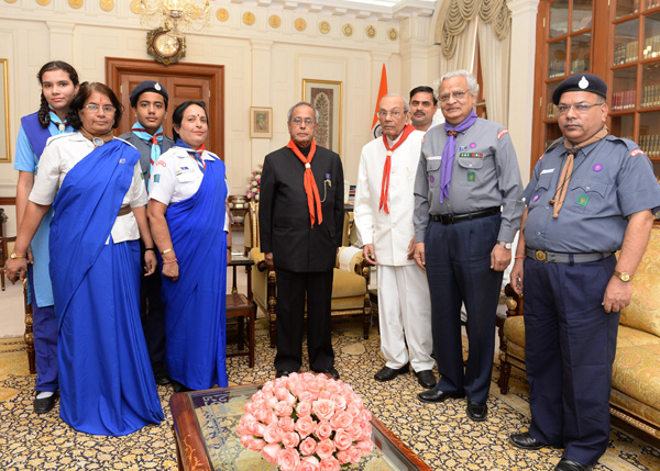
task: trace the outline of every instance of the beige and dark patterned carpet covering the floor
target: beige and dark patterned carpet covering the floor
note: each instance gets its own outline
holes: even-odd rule
[[[383,360],[377,329],[369,340],[355,319],[333,321],[337,368],[342,380],[363,397],[372,413],[436,470],[552,470],[560,450],[524,451],[509,445],[510,433],[527,429],[527,384],[514,369],[510,393],[501,395],[495,383],[488,401],[488,419],[474,423],[465,416],[465,400],[422,404],[411,374],[388,383],[373,380]],[[274,378],[275,350],[268,347],[265,319],[256,332],[256,366],[245,357],[228,362],[230,384],[248,384]],[[230,335],[231,338],[231,335]],[[498,377],[495,365],[494,378]],[[58,416],[32,413],[34,377],[21,338],[0,340],[0,469],[13,470],[175,470],[172,435],[172,388],[160,386],[165,412],[160,426],[147,426],[127,437],[97,437],[77,433]],[[635,434],[637,435],[637,434]],[[660,449],[629,431],[613,429],[607,453],[596,470],[658,470]]]

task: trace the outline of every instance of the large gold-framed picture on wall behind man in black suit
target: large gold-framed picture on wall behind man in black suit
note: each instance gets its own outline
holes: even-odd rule
[[[317,145],[341,155],[341,104],[340,81],[302,79],[302,101],[311,103],[319,112]]]

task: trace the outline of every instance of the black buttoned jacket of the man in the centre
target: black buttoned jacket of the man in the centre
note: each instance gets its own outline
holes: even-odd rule
[[[343,231],[343,168],[339,155],[317,146],[311,171],[319,189],[323,222],[310,225],[304,187],[305,165],[283,147],[266,156],[258,206],[260,244],[273,253],[276,269],[328,271],[334,267]],[[316,210],[316,203],[315,203]]]

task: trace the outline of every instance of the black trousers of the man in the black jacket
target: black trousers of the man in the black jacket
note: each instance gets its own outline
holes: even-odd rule
[[[276,269],[277,355],[275,369],[298,371],[302,366],[302,332],[307,299],[307,351],[312,371],[334,365],[330,332],[333,271],[293,272]]]

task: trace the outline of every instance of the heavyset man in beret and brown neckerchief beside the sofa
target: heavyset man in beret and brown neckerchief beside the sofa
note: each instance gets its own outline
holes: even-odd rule
[[[619,311],[630,303],[630,280],[660,210],[648,157],[608,135],[606,99],[607,86],[591,74],[565,79],[552,94],[563,137],[524,192],[512,271],[525,294],[531,426],[509,438],[530,450],[565,447],[554,468],[564,471],[591,470],[607,449]]]

